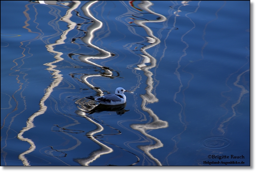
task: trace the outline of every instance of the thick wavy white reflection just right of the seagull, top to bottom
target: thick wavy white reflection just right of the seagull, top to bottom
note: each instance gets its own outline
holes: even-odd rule
[[[142,70],[144,72],[144,75],[147,77],[146,84],[147,87],[145,88],[146,94],[140,95],[142,98],[142,103],[141,103],[141,108],[143,111],[148,112],[150,117],[153,118],[153,122],[150,122],[148,124],[132,124],[130,127],[134,130],[138,130],[141,132],[141,134],[145,135],[147,138],[154,140],[156,143],[154,145],[147,145],[147,146],[140,146],[139,148],[145,152],[146,155],[150,159],[156,162],[157,165],[162,165],[161,162],[155,158],[150,151],[152,149],[157,149],[161,148],[164,146],[164,144],[157,139],[156,137],[149,135],[146,131],[148,130],[155,130],[159,128],[166,128],[168,127],[168,122],[167,121],[162,121],[159,119],[159,117],[151,110],[150,108],[146,107],[147,103],[155,103],[158,102],[159,100],[156,98],[156,96],[152,93],[153,88],[154,88],[154,81],[153,81],[153,73],[149,71],[151,68],[154,68],[156,66],[156,59],[150,55],[148,52],[146,52],[147,49],[152,48],[156,45],[158,45],[161,41],[158,37],[155,37],[153,34],[153,31],[145,25],[145,23],[150,23],[150,22],[164,22],[166,20],[166,17],[163,15],[160,15],[158,13],[155,13],[151,10],[149,10],[149,7],[152,6],[153,3],[149,1],[143,1],[143,3],[139,4],[138,6],[145,10],[148,11],[149,13],[152,13],[154,15],[157,15],[159,17],[159,20],[134,20],[134,23],[143,27],[149,37],[146,37],[148,39],[148,42],[150,43],[147,46],[144,46],[141,48],[141,52],[143,55],[141,55],[144,59],[140,64],[138,64],[138,68],[135,68],[137,70]],[[150,63],[150,65],[146,65],[145,63]]]

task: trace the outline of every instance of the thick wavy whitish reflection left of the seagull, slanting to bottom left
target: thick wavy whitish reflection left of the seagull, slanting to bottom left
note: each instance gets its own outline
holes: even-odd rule
[[[61,18],[61,20],[63,21],[66,21],[68,23],[68,28],[67,30],[65,30],[62,35],[60,36],[60,39],[58,39],[56,41],[56,43],[54,44],[50,44],[50,45],[46,45],[45,47],[47,48],[47,51],[49,51],[50,53],[55,53],[56,55],[54,56],[54,58],[56,59],[55,61],[53,62],[50,62],[50,63],[46,63],[44,65],[46,66],[49,66],[49,68],[47,68],[46,70],[49,70],[49,71],[53,71],[51,73],[51,75],[53,75],[53,78],[55,78],[55,80],[50,84],[50,86],[45,90],[45,94],[44,96],[42,97],[42,99],[40,99],[40,110],[38,110],[36,113],[32,114],[31,117],[28,118],[28,120],[26,121],[26,127],[24,127],[20,132],[19,134],[17,135],[17,138],[22,140],[22,141],[26,141],[28,142],[31,146],[30,148],[21,153],[18,158],[22,161],[23,165],[30,165],[28,160],[26,159],[25,155],[30,153],[30,152],[33,152],[35,149],[36,149],[36,145],[35,143],[31,140],[31,139],[28,139],[28,138],[24,138],[23,137],[23,134],[24,132],[30,130],[31,128],[35,127],[34,126],[34,119],[35,117],[41,115],[41,114],[44,114],[45,111],[47,110],[47,106],[45,106],[45,101],[50,97],[51,93],[53,92],[53,89],[59,85],[59,83],[62,81],[63,77],[61,74],[59,74],[61,71],[59,70],[56,70],[55,68],[57,67],[56,65],[54,65],[55,63],[59,62],[59,61],[62,61],[64,60],[63,58],[61,58],[60,56],[63,54],[62,52],[58,52],[58,51],[54,51],[54,46],[55,45],[60,45],[60,44],[64,44],[64,40],[67,38],[66,35],[69,33],[70,30],[74,29],[75,28],[75,25],[74,25],[74,22],[71,22],[69,19],[72,17],[72,14],[71,12],[73,10],[75,10],[80,2],[79,1],[75,1],[76,3],[73,4],[73,7],[70,7],[67,12],[66,12],[66,15],[64,15],[64,17]]]

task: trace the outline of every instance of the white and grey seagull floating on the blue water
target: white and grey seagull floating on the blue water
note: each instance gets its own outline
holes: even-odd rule
[[[107,94],[99,97],[90,96],[86,98],[100,102],[101,104],[105,104],[105,105],[118,105],[118,104],[126,103],[126,96],[124,95],[124,92],[129,92],[129,91],[123,89],[122,87],[118,87],[116,89],[115,94]]]

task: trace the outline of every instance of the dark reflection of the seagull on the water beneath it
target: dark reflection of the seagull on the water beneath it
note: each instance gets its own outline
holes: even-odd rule
[[[103,112],[103,111],[116,111],[117,115],[122,115],[125,112],[128,112],[129,110],[125,110],[126,107],[126,103],[124,104],[118,104],[118,105],[105,105],[105,104],[99,104],[98,106],[96,106],[95,108],[93,108],[92,110],[90,110],[88,113],[88,115],[91,115],[92,113],[96,112]]]

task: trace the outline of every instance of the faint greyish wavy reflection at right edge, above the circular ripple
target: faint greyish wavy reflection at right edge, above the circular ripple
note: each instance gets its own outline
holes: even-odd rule
[[[220,126],[219,126],[218,130],[219,130],[220,132],[222,132],[223,135],[225,134],[225,131],[224,131],[224,129],[223,129],[224,124],[225,124],[226,122],[230,121],[231,118],[233,118],[233,117],[236,116],[235,106],[238,105],[238,104],[241,102],[241,98],[243,97],[244,94],[249,93],[249,91],[246,90],[246,89],[244,88],[244,86],[238,84],[238,82],[240,81],[240,77],[241,77],[244,73],[249,72],[249,71],[250,71],[250,69],[244,71],[243,73],[240,73],[240,74],[237,76],[237,78],[236,78],[236,82],[234,82],[234,86],[237,86],[238,88],[241,88],[241,91],[240,91],[240,95],[239,95],[238,100],[236,101],[235,104],[232,104],[232,106],[231,106],[233,115],[232,115],[231,117],[227,118],[225,121],[223,121],[223,122],[220,123]]]

